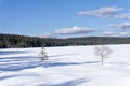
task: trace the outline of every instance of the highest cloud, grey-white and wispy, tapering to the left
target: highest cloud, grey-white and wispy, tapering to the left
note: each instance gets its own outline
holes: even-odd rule
[[[117,8],[117,6],[105,6],[93,11],[80,11],[78,12],[78,14],[103,17],[103,18],[113,18],[114,15],[121,10],[122,10],[121,8]]]

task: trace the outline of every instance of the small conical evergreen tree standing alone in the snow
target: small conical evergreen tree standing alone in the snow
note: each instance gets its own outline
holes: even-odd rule
[[[41,49],[40,49],[40,53],[39,53],[39,61],[40,62],[43,62],[44,60],[48,60],[48,55],[47,55],[47,53],[46,53],[46,48],[44,48],[44,46],[42,45],[42,47],[41,47]]]

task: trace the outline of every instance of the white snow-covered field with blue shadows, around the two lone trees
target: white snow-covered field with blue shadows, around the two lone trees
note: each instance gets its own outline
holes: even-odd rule
[[[42,67],[40,48],[0,49],[0,86],[130,86],[130,45],[109,47],[104,66],[94,46],[47,47]]]

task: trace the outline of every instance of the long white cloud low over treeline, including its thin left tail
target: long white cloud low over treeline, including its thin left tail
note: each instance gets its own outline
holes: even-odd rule
[[[90,29],[90,28],[83,28],[83,27],[78,27],[78,26],[73,26],[72,28],[63,28],[63,29],[56,29],[52,32],[49,33],[44,33],[42,35],[42,38],[57,38],[60,37],[69,37],[72,34],[74,35],[83,35],[83,34],[89,34],[92,32],[95,32],[96,30],[94,29]]]

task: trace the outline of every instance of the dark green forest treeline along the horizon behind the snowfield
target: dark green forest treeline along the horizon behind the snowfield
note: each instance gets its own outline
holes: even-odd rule
[[[54,38],[52,39],[0,33],[0,48],[40,47],[42,45],[68,46],[68,45],[98,45],[98,44],[130,44],[130,38],[86,37],[70,39],[54,39]]]

